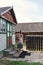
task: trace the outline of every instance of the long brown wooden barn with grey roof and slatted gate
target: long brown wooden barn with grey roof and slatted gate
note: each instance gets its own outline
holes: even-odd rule
[[[18,23],[15,29],[16,40],[21,30],[23,40],[26,40],[26,49],[30,51],[43,50],[43,22]]]

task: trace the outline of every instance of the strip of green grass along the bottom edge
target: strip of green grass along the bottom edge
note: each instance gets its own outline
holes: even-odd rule
[[[41,63],[27,63],[24,61],[9,61],[9,60],[0,60],[0,65],[43,65]]]

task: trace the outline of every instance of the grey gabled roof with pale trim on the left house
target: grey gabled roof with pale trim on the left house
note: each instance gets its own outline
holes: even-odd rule
[[[4,18],[4,19],[6,19],[6,20],[8,20],[6,17],[4,17],[3,15],[4,14],[6,14],[8,11],[10,11],[10,10],[13,10],[13,7],[11,6],[11,7],[1,7],[0,8],[0,17],[2,17],[2,18]],[[15,21],[16,21],[16,23],[17,23],[17,20],[16,20],[16,17],[15,17],[15,13],[14,13],[14,10],[13,10],[13,18],[15,18]],[[8,20],[9,21],[9,20]],[[11,21],[9,21],[9,22],[11,22]]]

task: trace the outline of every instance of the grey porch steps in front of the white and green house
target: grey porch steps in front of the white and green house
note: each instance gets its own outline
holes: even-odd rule
[[[22,51],[18,51],[17,49],[6,49],[4,50],[3,56],[4,57],[12,57],[12,58],[19,58],[20,54],[22,53]]]

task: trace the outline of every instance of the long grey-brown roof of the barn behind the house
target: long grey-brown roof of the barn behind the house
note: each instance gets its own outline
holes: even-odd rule
[[[16,25],[16,32],[43,32],[43,22],[35,23],[18,23]]]

